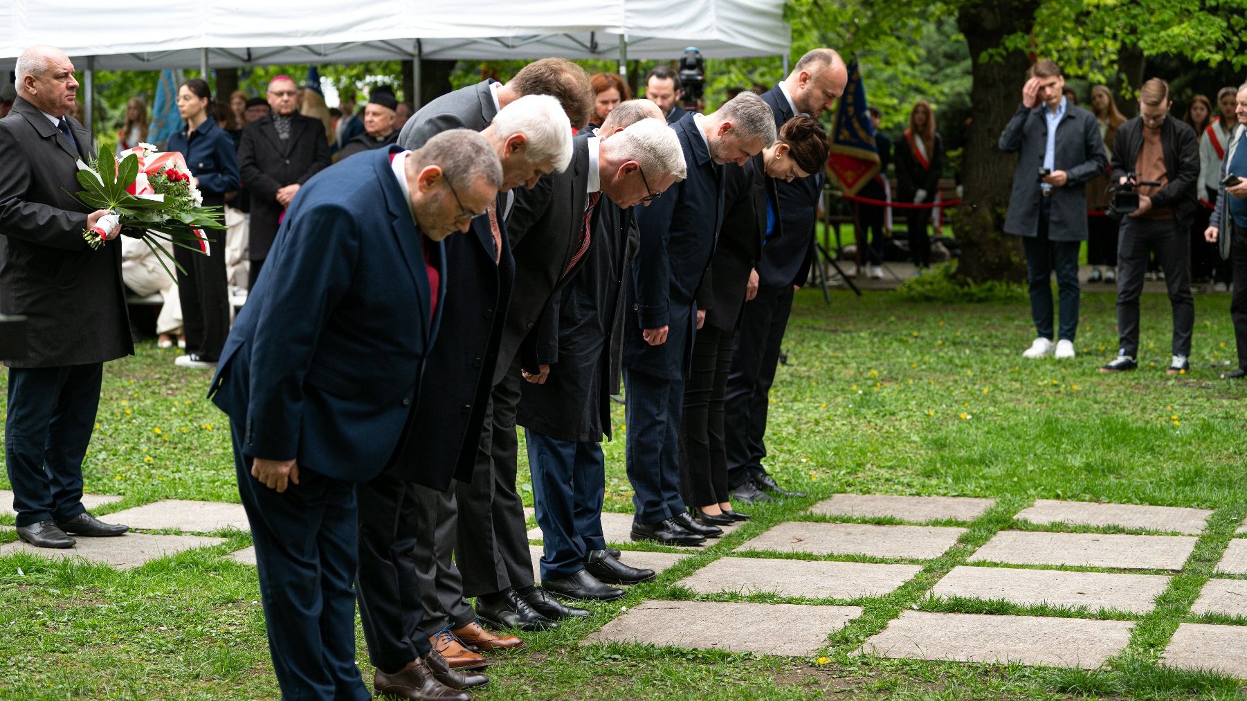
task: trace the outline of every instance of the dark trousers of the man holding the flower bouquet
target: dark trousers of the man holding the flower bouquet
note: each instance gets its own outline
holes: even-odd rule
[[[67,521],[82,506],[82,458],[104,364],[9,368],[4,455],[17,525]]]

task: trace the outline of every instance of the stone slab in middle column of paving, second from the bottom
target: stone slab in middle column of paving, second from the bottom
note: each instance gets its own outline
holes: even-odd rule
[[[1163,575],[959,566],[939,580],[929,596],[1004,599],[1019,606],[1047,604],[1147,614],[1156,607],[1156,597],[1165,592],[1168,580]]]

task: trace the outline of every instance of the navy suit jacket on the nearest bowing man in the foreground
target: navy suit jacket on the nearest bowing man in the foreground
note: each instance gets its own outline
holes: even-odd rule
[[[395,453],[438,333],[398,151],[325,168],[287,211],[209,394],[248,457],[367,481]],[[428,251],[444,272],[443,246]]]

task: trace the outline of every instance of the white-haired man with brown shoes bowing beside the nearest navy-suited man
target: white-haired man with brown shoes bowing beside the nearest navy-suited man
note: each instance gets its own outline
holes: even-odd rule
[[[443,116],[439,126],[455,121],[480,123],[465,114]],[[428,138],[420,126],[408,136]],[[456,634],[483,650],[520,644],[518,637],[494,636],[476,625],[464,601],[461,578],[451,561],[458,508],[454,491],[446,488],[453,476],[471,476],[504,317],[495,311],[506,307],[514,276],[499,212],[513,188],[531,187],[540,176],[567,167],[571,123],[556,99],[526,95],[508,102],[481,135],[503,163],[503,185],[484,216],[473,220],[469,236],[445,244],[448,277],[455,284],[446,296],[440,333],[453,342],[435,346],[425,362],[420,395],[405,429],[410,450],[395,458],[414,476],[400,480],[383,474],[359,489],[357,591],[378,692],[419,687],[405,679],[414,659],[444,659],[450,669],[483,666],[484,659],[460,645]],[[488,681],[484,675],[449,674],[438,680],[451,687]]]

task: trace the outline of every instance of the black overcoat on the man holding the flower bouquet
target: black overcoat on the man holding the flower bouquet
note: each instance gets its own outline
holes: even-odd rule
[[[14,368],[80,365],[135,352],[121,284],[121,242],[82,238],[94,211],[71,192],[91,132],[72,117],[77,150],[17,97],[0,120],[0,312],[27,317],[26,357]]]

